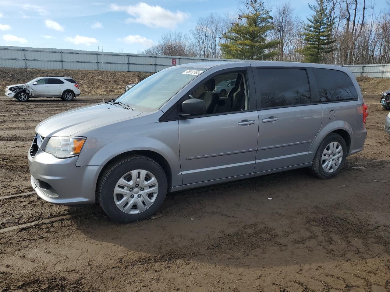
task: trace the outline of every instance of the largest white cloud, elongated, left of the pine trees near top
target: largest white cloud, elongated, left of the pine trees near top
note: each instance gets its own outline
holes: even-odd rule
[[[128,18],[128,23],[141,23],[149,27],[176,28],[178,23],[183,22],[190,14],[177,10],[172,12],[161,6],[152,6],[144,2],[136,5],[119,6],[111,4],[112,11],[125,11],[133,16]]]

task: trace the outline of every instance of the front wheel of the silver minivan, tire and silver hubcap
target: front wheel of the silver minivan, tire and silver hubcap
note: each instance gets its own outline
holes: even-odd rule
[[[144,220],[161,208],[167,195],[167,176],[149,157],[134,155],[110,165],[99,181],[98,197],[112,219]]]

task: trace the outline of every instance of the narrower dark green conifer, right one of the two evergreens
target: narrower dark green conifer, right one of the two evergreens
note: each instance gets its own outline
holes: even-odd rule
[[[297,51],[305,56],[305,62],[320,63],[326,54],[336,50],[333,46],[335,42],[332,38],[334,19],[330,19],[328,14],[329,0],[316,0],[317,5],[309,5],[314,14],[307,18],[307,23],[303,26],[306,45]]]

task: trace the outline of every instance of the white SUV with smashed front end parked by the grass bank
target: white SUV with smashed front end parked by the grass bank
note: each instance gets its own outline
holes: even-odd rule
[[[5,95],[21,102],[26,102],[32,97],[60,97],[62,100],[70,101],[80,95],[80,89],[71,77],[38,77],[26,84],[7,86]]]

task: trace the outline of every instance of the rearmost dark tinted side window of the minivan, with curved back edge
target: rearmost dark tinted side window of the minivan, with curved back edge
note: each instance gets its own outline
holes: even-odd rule
[[[351,78],[344,72],[319,68],[313,70],[316,74],[320,102],[358,98]]]

